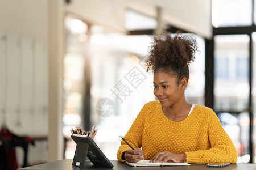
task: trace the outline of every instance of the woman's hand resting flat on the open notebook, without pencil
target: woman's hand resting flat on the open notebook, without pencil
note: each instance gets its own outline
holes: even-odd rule
[[[172,152],[164,151],[158,152],[154,158],[150,160],[152,163],[166,163],[166,162],[183,162],[187,160],[187,156],[185,154],[175,154]]]

